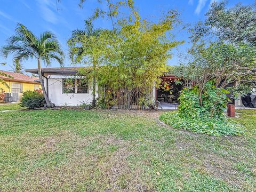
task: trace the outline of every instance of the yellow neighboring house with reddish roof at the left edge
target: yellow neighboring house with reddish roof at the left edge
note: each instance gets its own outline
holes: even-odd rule
[[[23,75],[19,73],[13,73],[10,71],[0,70],[5,74],[12,76],[13,78],[7,78],[0,76],[10,88],[2,85],[0,83],[0,89],[4,90],[5,93],[19,93],[19,99],[21,94],[27,90],[38,90],[41,89],[41,85],[38,77],[30,77],[28,75]]]

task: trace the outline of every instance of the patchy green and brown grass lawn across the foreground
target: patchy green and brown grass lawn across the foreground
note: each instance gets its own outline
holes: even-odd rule
[[[160,112],[0,113],[0,191],[255,191],[256,111],[241,137],[158,122]]]

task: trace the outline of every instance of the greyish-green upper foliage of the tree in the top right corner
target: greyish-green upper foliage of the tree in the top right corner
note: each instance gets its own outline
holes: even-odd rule
[[[256,2],[227,8],[228,1],[213,2],[205,14],[205,21],[199,21],[192,30],[192,41],[213,39],[225,43],[249,43],[256,46]]]

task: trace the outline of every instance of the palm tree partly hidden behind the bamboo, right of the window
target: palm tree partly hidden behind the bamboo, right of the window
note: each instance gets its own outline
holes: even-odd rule
[[[83,47],[81,45],[81,43],[79,43],[82,41],[84,36],[87,39],[90,39],[90,37],[92,37],[92,36],[98,37],[101,32],[102,32],[102,29],[94,29],[92,19],[85,20],[85,29],[84,30],[76,29],[76,30],[72,31],[72,36],[69,39],[69,42],[75,42],[75,44],[76,44],[75,50],[76,51],[75,51],[75,53],[73,52],[73,50],[71,51],[72,52],[72,53],[70,53],[70,55],[72,55],[71,57],[74,57],[74,55],[75,55],[75,57],[81,57],[81,55],[84,54],[86,47]],[[89,55],[89,57],[90,57],[90,55]],[[96,85],[97,61],[93,60],[92,64],[93,64],[92,107],[95,107],[95,85]]]

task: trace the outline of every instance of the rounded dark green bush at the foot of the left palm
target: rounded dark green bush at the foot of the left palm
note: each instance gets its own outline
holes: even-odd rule
[[[35,109],[44,106],[44,95],[38,91],[26,91],[21,98],[21,107]]]

